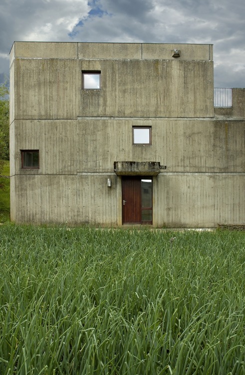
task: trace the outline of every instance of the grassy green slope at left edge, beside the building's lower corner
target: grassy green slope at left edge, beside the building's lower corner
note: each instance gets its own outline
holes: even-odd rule
[[[0,173],[0,222],[10,220],[10,179],[2,176],[9,176],[9,161],[5,161]]]

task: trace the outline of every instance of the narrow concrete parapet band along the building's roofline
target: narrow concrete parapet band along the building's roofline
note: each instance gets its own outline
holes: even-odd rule
[[[173,49],[181,50],[179,59],[213,60],[213,44],[182,43],[15,41],[11,48],[11,55],[15,58],[175,59],[172,57]]]

